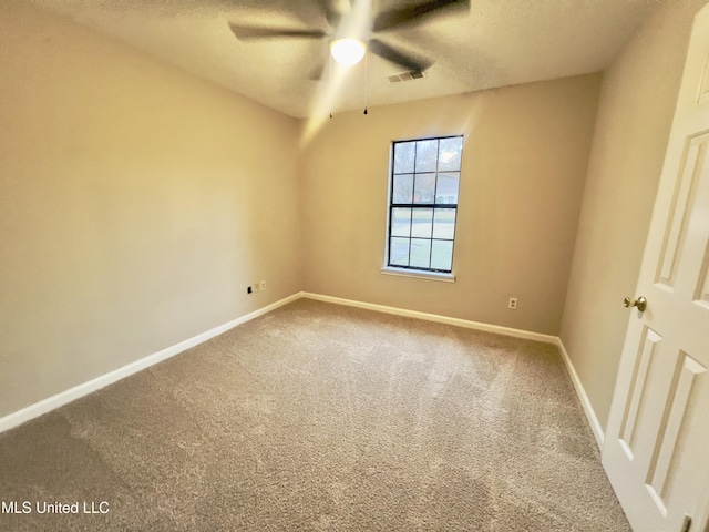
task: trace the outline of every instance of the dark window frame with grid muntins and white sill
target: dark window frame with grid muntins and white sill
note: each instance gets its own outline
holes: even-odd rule
[[[412,203],[393,203],[393,197],[394,197],[394,175],[399,175],[399,174],[394,174],[394,156],[395,156],[395,147],[397,144],[402,144],[402,143],[408,143],[408,142],[422,142],[422,141],[438,141],[439,142],[439,149],[440,149],[440,141],[446,140],[446,139],[460,139],[461,140],[461,162],[460,162],[460,166],[458,170],[453,170],[453,171],[448,171],[448,172],[456,172],[459,174],[459,181],[458,181],[458,194],[456,194],[456,202],[455,203],[435,203],[435,198],[436,198],[436,192],[438,192],[438,186],[439,186],[439,155],[440,155],[440,151],[436,151],[436,164],[435,164],[435,171],[433,172],[415,172],[415,167],[413,168],[413,172],[411,172],[412,175],[412,187],[413,191],[412,193],[415,193],[415,180],[417,180],[417,175],[420,174],[434,174],[435,175],[435,187],[433,191],[433,202],[432,203],[414,203],[413,200],[414,197],[412,197]],[[443,282],[449,282],[449,283],[453,283],[455,282],[455,275],[454,275],[454,268],[453,268],[453,256],[455,254],[455,236],[456,236],[456,229],[458,229],[458,215],[459,215],[459,205],[460,205],[460,184],[461,184],[461,177],[462,177],[462,160],[463,160],[463,150],[464,150],[464,145],[465,145],[465,136],[462,133],[459,134],[449,134],[449,135],[436,135],[436,136],[427,136],[427,137],[417,137],[417,139],[408,139],[408,140],[397,140],[397,141],[392,141],[391,145],[390,145],[390,156],[389,156],[389,178],[388,178],[388,194],[387,194],[387,233],[386,233],[386,242],[384,242],[384,264],[381,268],[381,273],[382,274],[387,274],[387,275],[401,275],[401,276],[405,276],[405,277],[420,277],[420,278],[425,278],[425,279],[431,279],[431,280],[443,280]],[[415,150],[415,147],[414,147]],[[415,161],[415,152],[414,152],[414,161]],[[443,171],[446,172],[446,171]],[[411,241],[412,238],[418,238],[418,239],[423,239],[423,241],[428,241],[430,243],[430,247],[431,247],[431,254],[433,253],[433,242],[434,241],[448,241],[451,242],[451,268],[450,269],[441,269],[441,268],[433,268],[431,267],[431,257],[429,258],[429,267],[421,267],[421,266],[402,266],[402,265],[393,265],[391,264],[391,243],[392,243],[392,224],[393,224],[393,209],[394,208],[411,208],[411,213],[412,213],[412,217],[413,217],[413,212],[415,209],[430,209],[432,211],[432,223],[433,219],[435,219],[435,211],[436,209],[443,209],[443,208],[448,208],[448,209],[453,209],[454,212],[454,222],[453,222],[453,236],[452,238],[434,238],[433,237],[433,227],[432,227],[432,233],[430,237],[412,237],[411,233],[409,234],[409,241]],[[411,249],[411,248],[410,248]]]

